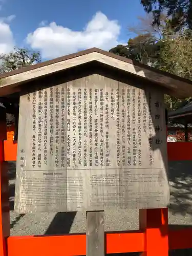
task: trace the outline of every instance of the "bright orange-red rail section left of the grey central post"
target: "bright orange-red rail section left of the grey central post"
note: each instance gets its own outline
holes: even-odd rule
[[[9,256],[71,256],[86,254],[86,236],[9,237]]]

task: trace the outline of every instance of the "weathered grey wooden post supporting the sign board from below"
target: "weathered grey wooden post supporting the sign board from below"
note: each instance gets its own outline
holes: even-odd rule
[[[104,211],[87,211],[87,256],[104,256]]]

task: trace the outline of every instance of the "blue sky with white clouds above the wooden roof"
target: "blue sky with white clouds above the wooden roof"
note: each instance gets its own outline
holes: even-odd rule
[[[0,0],[0,53],[27,46],[51,59],[125,43],[144,16],[140,0]]]

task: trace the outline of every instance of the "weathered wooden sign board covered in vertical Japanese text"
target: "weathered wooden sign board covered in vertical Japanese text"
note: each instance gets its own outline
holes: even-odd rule
[[[160,91],[95,74],[20,96],[19,109],[17,212],[167,206]]]

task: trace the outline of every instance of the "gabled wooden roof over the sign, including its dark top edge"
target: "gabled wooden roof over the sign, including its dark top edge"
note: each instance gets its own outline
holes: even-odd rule
[[[1,75],[0,97],[18,92],[20,90],[20,84],[24,84],[30,80],[74,68],[92,61],[97,61],[113,69],[122,70],[127,72],[127,75],[132,74],[136,77],[154,82],[154,86],[158,84],[159,86],[167,88],[170,94],[176,97],[185,98],[192,95],[192,82],[187,79],[162,72],[137,61],[98,48],[92,48]]]

